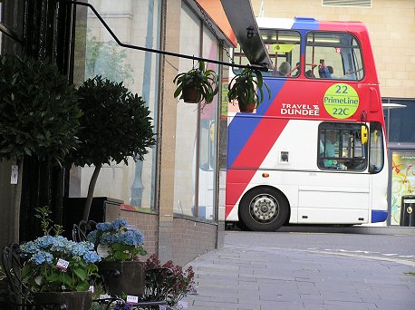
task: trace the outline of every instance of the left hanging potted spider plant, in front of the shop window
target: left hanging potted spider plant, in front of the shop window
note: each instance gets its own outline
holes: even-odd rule
[[[173,82],[177,84],[174,98],[183,99],[184,102],[198,103],[202,100],[208,104],[213,101],[217,94],[218,78],[213,70],[206,69],[205,62],[198,62],[198,67],[187,73],[179,73]]]

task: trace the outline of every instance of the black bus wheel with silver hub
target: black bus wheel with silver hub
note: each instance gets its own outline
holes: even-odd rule
[[[239,203],[239,220],[255,231],[275,231],[285,224],[288,215],[288,202],[276,189],[251,189]]]

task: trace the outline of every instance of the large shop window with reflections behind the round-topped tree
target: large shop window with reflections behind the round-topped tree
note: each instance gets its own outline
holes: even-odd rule
[[[161,0],[92,0],[90,3],[121,42],[159,49]],[[77,5],[76,14],[74,82],[79,84],[95,75],[123,82],[130,92],[142,96],[150,108],[150,117],[155,120],[159,55],[116,44],[90,8]],[[143,161],[135,163],[130,159],[128,166],[102,167],[94,196],[121,199],[136,207],[155,208],[155,154],[155,150],[150,149]],[[75,180],[70,192],[86,196],[92,170],[93,167],[72,169]]]

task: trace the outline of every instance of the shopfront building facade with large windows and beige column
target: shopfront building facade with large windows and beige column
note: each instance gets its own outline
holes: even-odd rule
[[[69,12],[64,19],[69,30],[61,33],[62,25],[56,24],[56,20],[63,20],[63,8]],[[122,217],[135,224],[146,237],[144,247],[149,255],[157,253],[162,261],[172,259],[184,265],[218,247],[220,97],[208,105],[188,104],[174,98],[173,83],[178,73],[197,66],[198,58],[221,61],[224,49],[232,44],[212,16],[197,2],[180,0],[92,0],[88,5],[67,5],[54,0],[35,4],[31,0],[3,1],[0,10],[2,54],[43,58],[47,55],[39,50],[62,49],[58,42],[41,42],[46,47],[37,47],[34,43],[29,46],[30,41],[26,40],[27,14],[41,16],[38,22],[49,18],[46,24],[56,25],[53,35],[64,36],[70,45],[70,53],[62,56],[66,57],[65,66],[60,67],[70,81],[80,85],[101,75],[123,82],[143,98],[151,111],[157,144],[148,150],[145,159],[101,169],[94,197],[106,202],[103,218]],[[36,29],[42,32],[43,24],[39,22]],[[29,53],[31,49],[34,53]],[[52,58],[57,60],[55,55]],[[219,76],[223,74],[219,64],[208,63],[207,67]],[[6,212],[2,218],[3,246],[13,239],[14,186],[7,181],[12,163],[2,161],[1,165],[2,211]],[[60,202],[32,198],[31,189],[26,189],[23,200],[28,201],[23,203],[21,212],[33,213],[45,202],[56,204],[52,206],[53,219],[65,222],[77,212],[71,199],[86,196],[92,171],[93,167],[88,166],[65,170],[65,184],[56,194],[61,196]],[[29,174],[30,171],[24,171],[24,182]],[[56,212],[59,208],[63,208],[61,214]],[[35,229],[26,230],[37,223],[26,220],[21,216],[21,241],[35,234]]]

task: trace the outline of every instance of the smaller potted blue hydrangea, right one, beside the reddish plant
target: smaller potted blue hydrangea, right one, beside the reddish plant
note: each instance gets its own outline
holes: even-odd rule
[[[125,219],[98,223],[87,239],[101,254],[99,273],[111,295],[142,295],[144,293],[144,263],[140,256],[147,254],[142,247],[144,236],[140,230],[127,225]]]

